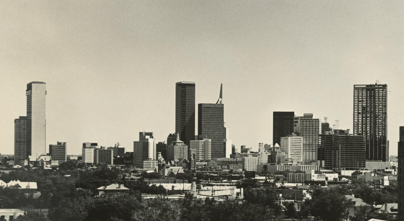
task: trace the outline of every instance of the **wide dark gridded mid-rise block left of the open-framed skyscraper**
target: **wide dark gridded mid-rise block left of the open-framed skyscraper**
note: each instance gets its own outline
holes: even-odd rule
[[[365,167],[365,139],[364,136],[349,134],[349,130],[334,130],[321,134],[323,154],[320,161],[324,161],[325,169],[361,170]]]

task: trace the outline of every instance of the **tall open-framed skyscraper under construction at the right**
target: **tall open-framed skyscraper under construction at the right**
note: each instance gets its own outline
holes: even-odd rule
[[[353,85],[353,134],[365,136],[367,160],[389,160],[387,84]]]

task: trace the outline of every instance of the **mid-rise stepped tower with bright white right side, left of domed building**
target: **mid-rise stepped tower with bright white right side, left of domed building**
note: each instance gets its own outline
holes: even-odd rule
[[[137,167],[143,167],[143,161],[156,160],[153,132],[139,132],[139,141],[133,142],[133,157]]]

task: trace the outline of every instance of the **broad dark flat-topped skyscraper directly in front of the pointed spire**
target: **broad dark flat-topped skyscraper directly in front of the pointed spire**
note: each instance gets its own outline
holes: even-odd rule
[[[224,104],[198,104],[198,136],[212,140],[212,159],[225,157]]]

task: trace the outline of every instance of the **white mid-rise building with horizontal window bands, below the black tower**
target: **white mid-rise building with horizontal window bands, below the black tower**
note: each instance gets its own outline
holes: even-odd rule
[[[293,133],[290,136],[280,138],[280,150],[292,161],[303,161],[303,137]]]

